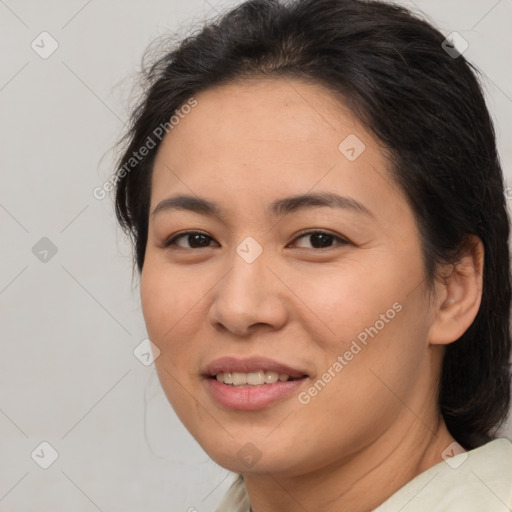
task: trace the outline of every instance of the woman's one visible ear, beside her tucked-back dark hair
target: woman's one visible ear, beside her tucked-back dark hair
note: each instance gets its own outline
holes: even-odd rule
[[[460,260],[441,270],[436,282],[434,321],[429,342],[446,345],[458,340],[473,323],[482,300],[484,246],[469,235]]]

